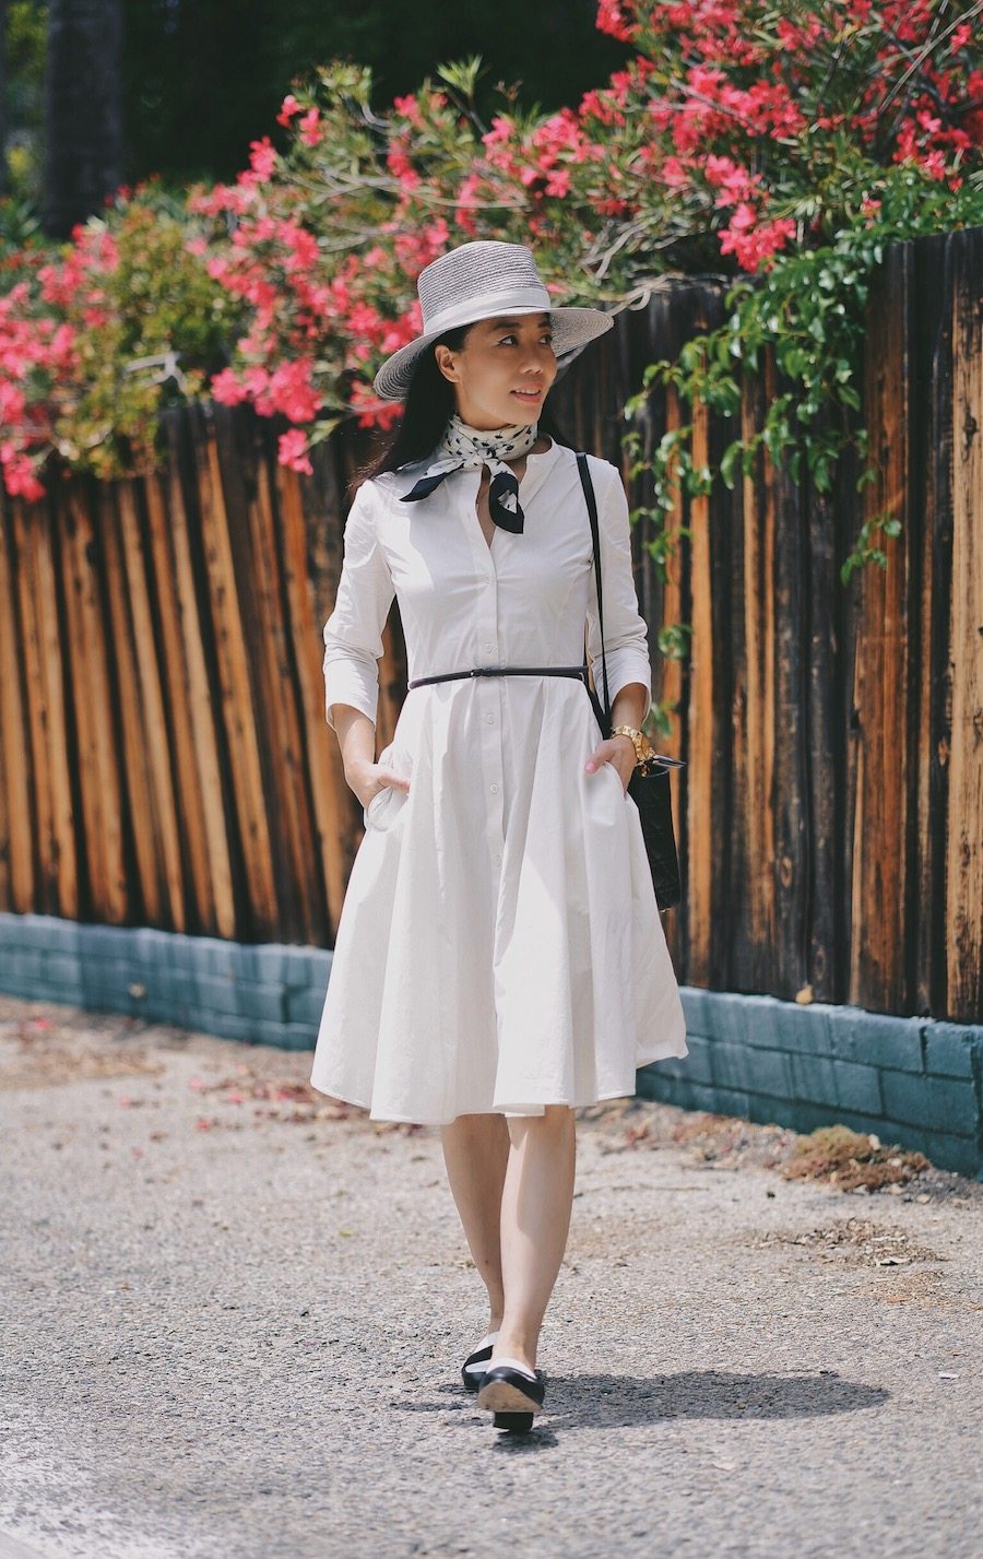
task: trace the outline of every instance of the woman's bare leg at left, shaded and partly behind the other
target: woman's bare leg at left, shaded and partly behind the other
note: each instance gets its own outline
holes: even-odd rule
[[[509,1157],[509,1133],[503,1115],[458,1115],[441,1127],[444,1163],[464,1236],[478,1277],[488,1289],[488,1330],[502,1325],[502,1186]]]

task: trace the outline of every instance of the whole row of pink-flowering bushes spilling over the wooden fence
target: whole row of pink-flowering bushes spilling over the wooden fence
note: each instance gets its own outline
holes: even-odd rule
[[[280,460],[310,471],[340,421],[399,415],[374,373],[421,327],[419,271],[467,239],[531,243],[558,306],[618,309],[668,273],[763,282],[869,229],[899,181],[913,212],[961,192],[983,220],[983,67],[949,0],[600,0],[597,25],[634,53],[575,108],[506,92],[486,123],[475,59],[380,114],[333,62],[232,184],[181,209],[122,190],[70,245],[0,256],[8,491],[36,497],[53,451],[150,458],[160,404],[203,390],[285,419]]]

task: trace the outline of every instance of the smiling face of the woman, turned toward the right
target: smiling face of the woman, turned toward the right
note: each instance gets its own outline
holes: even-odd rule
[[[433,355],[453,385],[458,416],[484,432],[534,422],[556,379],[548,313],[478,320],[460,352],[441,345]]]

